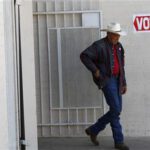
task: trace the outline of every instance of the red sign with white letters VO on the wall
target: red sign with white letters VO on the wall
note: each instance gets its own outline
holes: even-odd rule
[[[136,15],[133,17],[134,28],[139,31],[150,31],[150,15]]]

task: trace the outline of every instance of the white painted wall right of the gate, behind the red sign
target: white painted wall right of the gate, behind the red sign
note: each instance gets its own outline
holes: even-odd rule
[[[121,38],[128,84],[121,118],[127,136],[150,136],[150,34],[133,32],[133,15],[150,14],[149,6],[147,0],[102,0],[100,5],[104,27],[118,21],[128,31],[128,35]]]

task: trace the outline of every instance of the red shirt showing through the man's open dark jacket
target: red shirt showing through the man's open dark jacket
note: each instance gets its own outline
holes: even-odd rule
[[[117,56],[117,49],[116,46],[113,46],[113,57],[114,57],[114,63],[113,63],[113,68],[112,68],[112,74],[113,75],[118,75],[119,74],[119,61],[118,61],[118,56]]]

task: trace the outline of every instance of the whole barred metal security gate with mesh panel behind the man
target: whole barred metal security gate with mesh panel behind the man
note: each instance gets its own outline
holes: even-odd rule
[[[79,58],[100,38],[100,11],[93,4],[33,3],[39,137],[84,136],[103,114],[102,93]]]

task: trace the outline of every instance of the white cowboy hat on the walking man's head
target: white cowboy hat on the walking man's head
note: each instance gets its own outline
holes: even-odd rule
[[[121,29],[121,26],[117,22],[112,22],[107,26],[107,29],[101,29],[100,31],[111,32],[125,36],[127,33]]]

